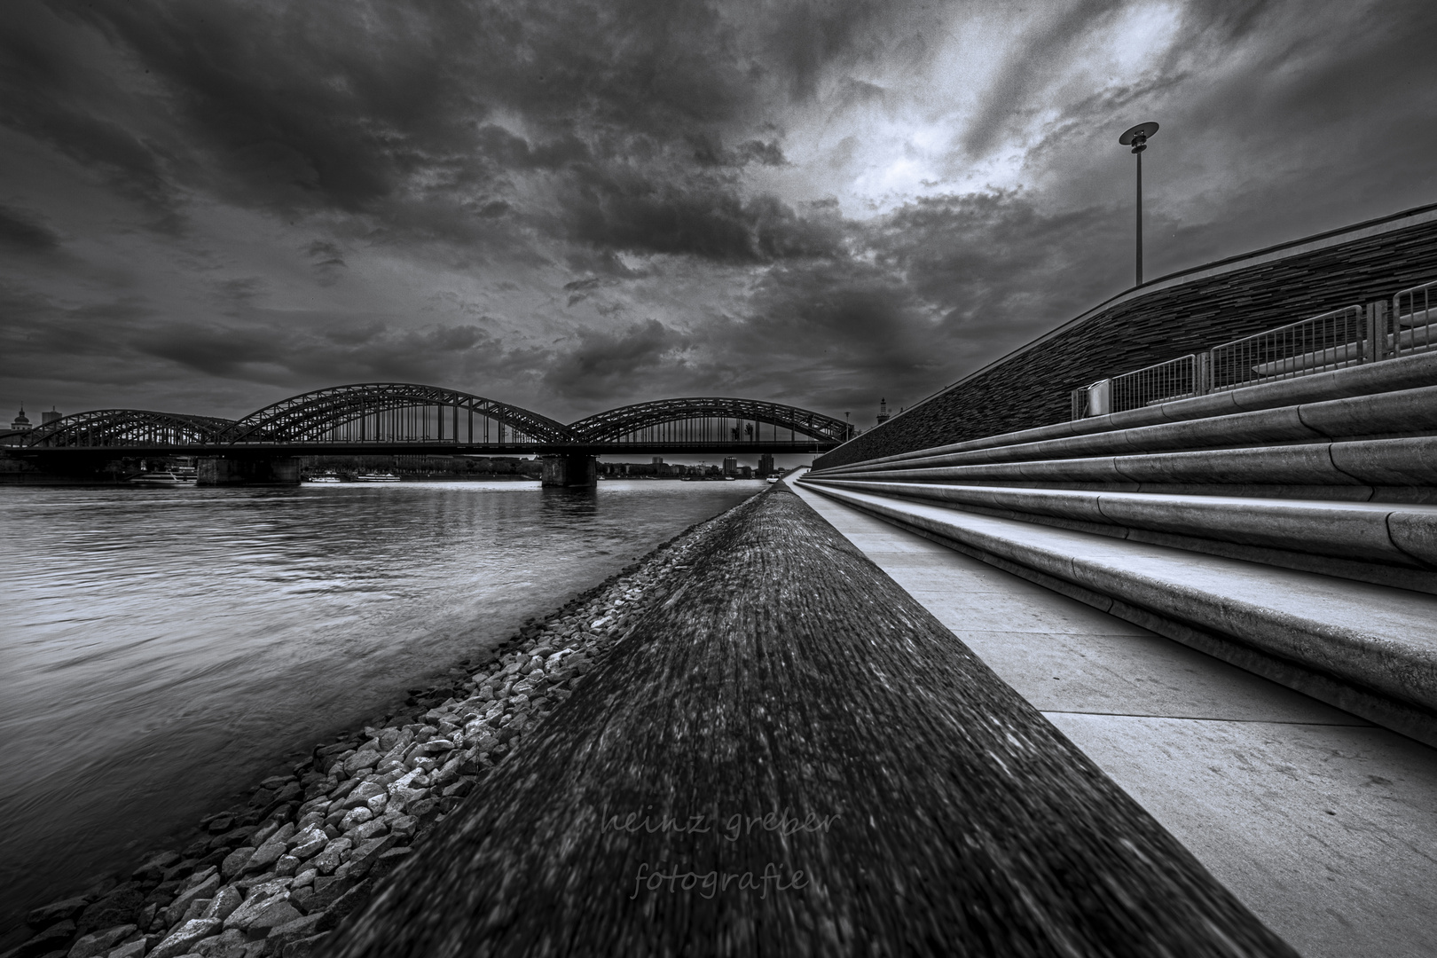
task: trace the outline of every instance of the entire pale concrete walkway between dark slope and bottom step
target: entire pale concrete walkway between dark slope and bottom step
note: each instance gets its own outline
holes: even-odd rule
[[[1437,751],[795,488],[1299,952],[1437,955]]]

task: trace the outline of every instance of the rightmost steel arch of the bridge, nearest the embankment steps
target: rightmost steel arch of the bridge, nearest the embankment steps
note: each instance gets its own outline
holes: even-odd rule
[[[759,399],[736,399],[723,396],[690,396],[683,399],[658,399],[655,402],[638,402],[616,409],[608,409],[598,415],[570,422],[569,429],[581,442],[624,442],[624,441],[654,441],[660,438],[654,434],[668,434],[678,438],[678,427],[685,422],[734,422],[739,434],[734,441],[762,442],[762,425],[769,425],[776,431],[787,431],[789,438],[799,435],[821,442],[842,442],[851,434],[851,427],[842,419],[826,417],[812,409],[787,406],[779,402],[762,402]],[[754,427],[757,435],[747,432]],[[713,427],[706,427],[708,431]],[[724,425],[723,429],[734,427]],[[647,435],[645,435],[647,434]],[[698,440],[698,435],[694,435]],[[710,437],[703,437],[704,440]],[[727,437],[721,437],[727,438]],[[775,435],[775,441],[779,437]]]

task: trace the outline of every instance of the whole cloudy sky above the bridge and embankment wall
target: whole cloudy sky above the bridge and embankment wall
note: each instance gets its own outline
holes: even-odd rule
[[[871,425],[1131,284],[1132,124],[1148,276],[1437,201],[1434,42],[1431,0],[11,0],[0,414]]]

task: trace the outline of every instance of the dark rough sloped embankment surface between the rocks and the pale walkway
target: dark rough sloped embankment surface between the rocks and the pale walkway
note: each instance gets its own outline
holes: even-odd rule
[[[701,534],[328,954],[1293,955],[785,487]]]

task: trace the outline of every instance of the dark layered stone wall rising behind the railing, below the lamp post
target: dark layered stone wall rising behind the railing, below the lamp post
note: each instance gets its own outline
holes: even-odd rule
[[[1292,244],[1298,251],[1275,259],[1250,254],[1154,280],[1151,292],[1059,326],[819,457],[813,468],[1063,422],[1069,392],[1085,383],[1437,280],[1430,215],[1401,214],[1352,233],[1357,238],[1319,248],[1302,240]]]

